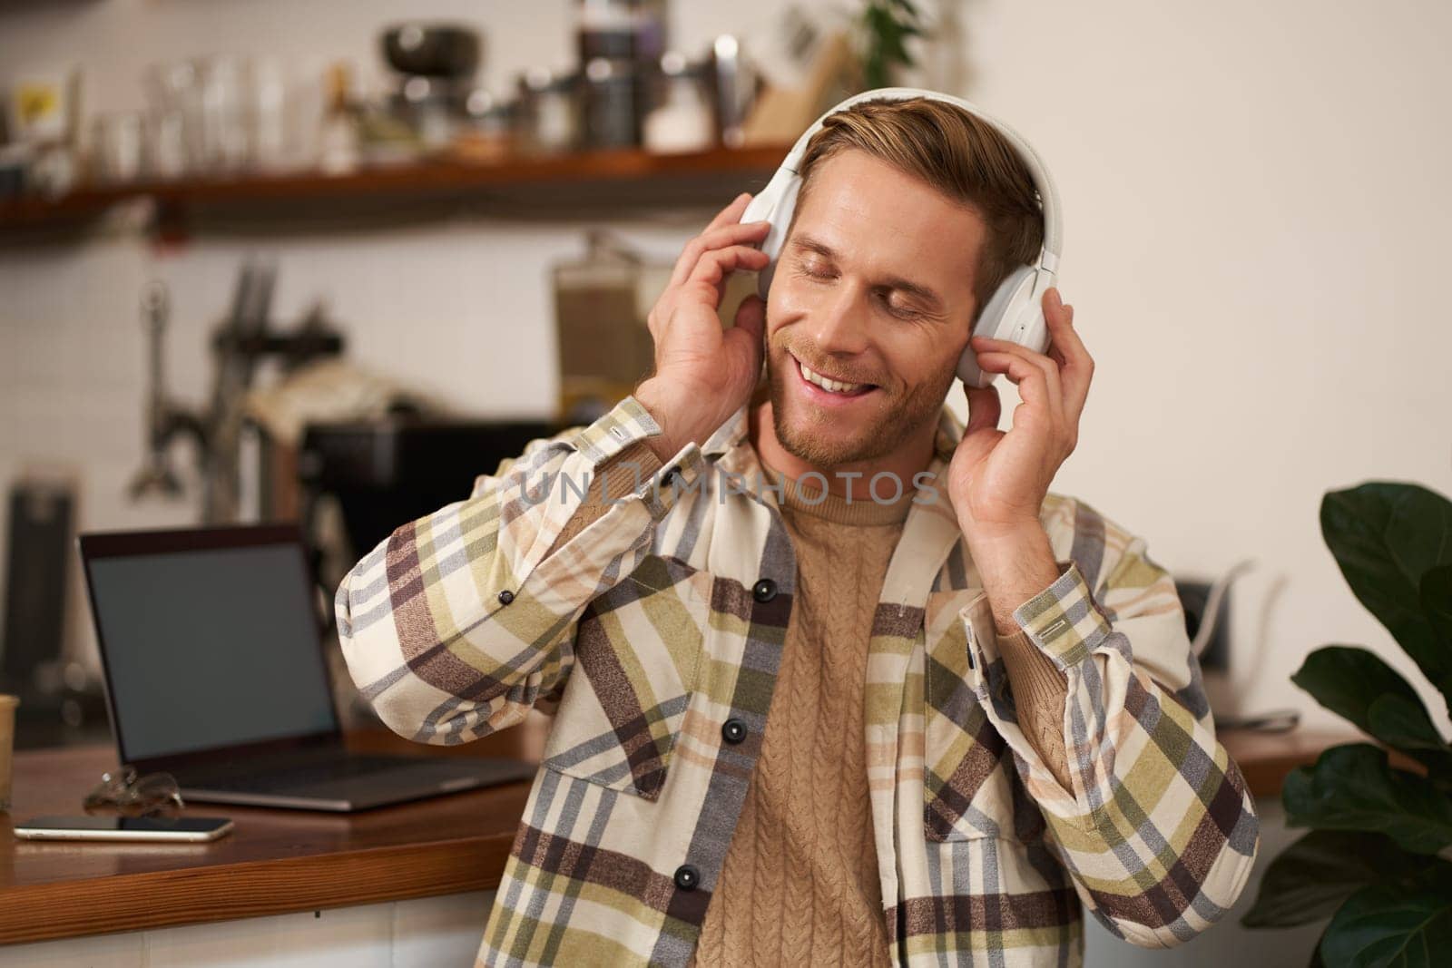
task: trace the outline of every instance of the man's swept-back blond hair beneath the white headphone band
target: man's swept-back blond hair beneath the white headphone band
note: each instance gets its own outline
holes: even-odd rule
[[[928,97],[861,102],[829,116],[802,157],[797,210],[812,186],[813,167],[848,148],[922,179],[983,219],[987,234],[973,280],[974,321],[1013,268],[1038,258],[1044,219],[1034,177],[1018,151],[982,118]]]

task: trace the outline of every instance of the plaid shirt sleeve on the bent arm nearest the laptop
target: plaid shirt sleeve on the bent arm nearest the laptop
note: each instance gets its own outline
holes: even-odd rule
[[[523,721],[563,686],[581,612],[635,570],[650,530],[704,469],[688,444],[662,470],[643,448],[659,432],[626,398],[590,427],[533,441],[479,476],[468,499],[399,527],[348,572],[338,640],[385,726],[463,743]]]

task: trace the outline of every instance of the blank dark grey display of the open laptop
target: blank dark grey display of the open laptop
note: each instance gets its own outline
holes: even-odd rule
[[[126,760],[337,729],[301,546],[87,557]]]

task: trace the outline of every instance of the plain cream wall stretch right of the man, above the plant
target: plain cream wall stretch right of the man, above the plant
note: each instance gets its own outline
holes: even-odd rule
[[[992,3],[967,20],[973,94],[1022,119],[1061,183],[1064,292],[1099,364],[1060,486],[1176,570],[1259,560],[1234,623],[1246,710],[1311,705],[1286,679],[1330,641],[1414,675],[1317,509],[1372,477],[1452,493],[1452,329],[1424,282],[1452,215],[1452,10]]]

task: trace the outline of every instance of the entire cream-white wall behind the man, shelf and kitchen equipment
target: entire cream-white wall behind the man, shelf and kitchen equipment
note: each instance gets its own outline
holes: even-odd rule
[[[751,32],[780,7],[677,0],[675,39]],[[1452,328],[1436,282],[1452,216],[1440,177],[1452,67],[1439,49],[1452,9],[954,10],[968,38],[961,93],[1032,138],[1066,203],[1063,290],[1098,373],[1056,489],[1147,536],[1178,573],[1257,559],[1233,627],[1239,708],[1297,705],[1333,723],[1288,682],[1310,649],[1368,643],[1411,666],[1346,591],[1321,544],[1320,495],[1372,477],[1452,492]],[[436,13],[485,28],[494,84],[572,57],[566,0],[30,3],[0,7],[0,83],[78,60],[91,107],[135,107],[144,65],[179,52],[370,62],[380,23]],[[671,251],[698,221],[624,228]],[[364,364],[484,412],[543,412],[555,399],[544,271],[578,251],[581,228],[475,222],[267,251],[283,315],[327,295]],[[136,293],[151,274],[171,284],[174,389],[197,399],[208,328],[254,248],[0,250],[0,480],[68,462],[84,472],[84,527],[186,520],[121,496],[142,437]]]

